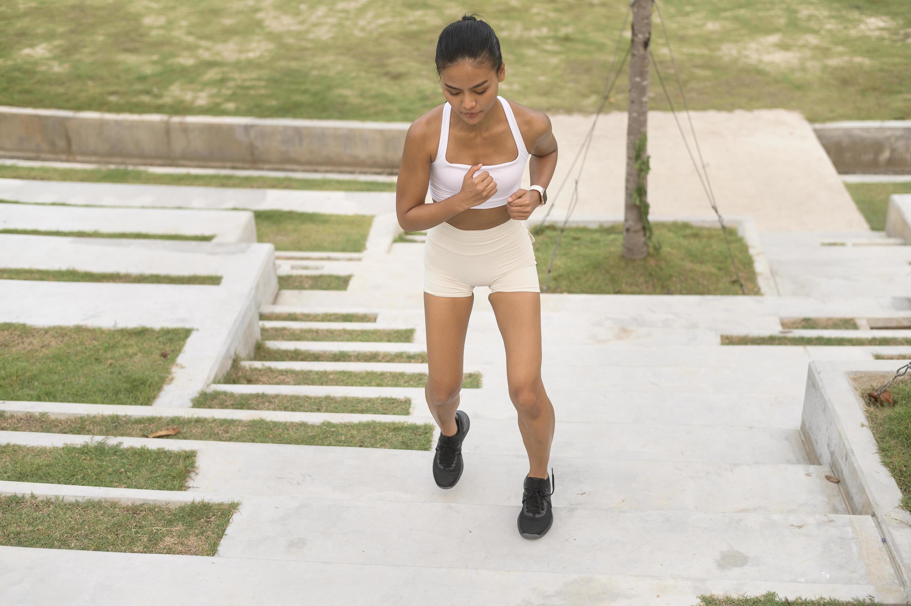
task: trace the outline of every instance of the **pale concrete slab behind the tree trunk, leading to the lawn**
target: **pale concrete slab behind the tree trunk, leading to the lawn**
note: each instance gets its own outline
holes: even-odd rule
[[[752,217],[759,231],[868,231],[813,127],[784,109],[691,112],[711,187],[723,215]],[[579,180],[573,216],[622,215],[626,164],[624,112],[599,118]],[[551,116],[561,150],[571,158],[591,126],[588,116]],[[684,128],[690,148],[693,141]],[[649,112],[649,199],[655,215],[711,213],[670,112]],[[695,153],[695,152],[694,152]],[[549,190],[551,216],[563,218],[569,187],[554,200],[570,162],[558,163]],[[575,174],[575,173],[574,173]],[[527,175],[523,187],[527,187]],[[540,211],[543,211],[541,209]]]

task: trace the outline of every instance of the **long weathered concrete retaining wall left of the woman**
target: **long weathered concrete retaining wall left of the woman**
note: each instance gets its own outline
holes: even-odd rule
[[[0,106],[0,157],[392,173],[398,170],[408,126]]]

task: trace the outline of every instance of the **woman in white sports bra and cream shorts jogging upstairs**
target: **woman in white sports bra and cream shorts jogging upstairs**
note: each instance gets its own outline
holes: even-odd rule
[[[395,192],[404,231],[427,231],[425,395],[440,427],[433,470],[440,488],[462,476],[468,416],[458,410],[474,287],[489,301],[507,354],[509,397],[528,453],[517,525],[543,536],[553,521],[548,477],[554,409],[541,382],[541,301],[534,237],[525,221],[547,201],[557,140],[546,114],[497,95],[506,78],[494,30],[474,15],[446,26],[436,44],[446,103],[408,128]],[[528,158],[532,186],[523,190]],[[433,203],[425,204],[427,187]]]

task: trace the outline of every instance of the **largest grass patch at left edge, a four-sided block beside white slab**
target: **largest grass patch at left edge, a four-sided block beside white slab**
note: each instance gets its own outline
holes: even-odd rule
[[[190,332],[0,323],[0,400],[150,405]]]

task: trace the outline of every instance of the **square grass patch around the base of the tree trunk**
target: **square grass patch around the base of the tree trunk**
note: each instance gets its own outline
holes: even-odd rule
[[[550,274],[548,293],[740,294],[722,231],[689,223],[654,224],[654,247],[641,261],[624,259],[623,226],[567,228]],[[535,234],[538,279],[544,284],[559,227]],[[728,238],[748,294],[759,294],[752,257],[734,230]]]

